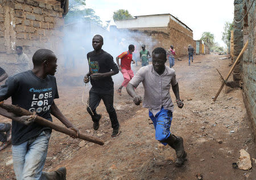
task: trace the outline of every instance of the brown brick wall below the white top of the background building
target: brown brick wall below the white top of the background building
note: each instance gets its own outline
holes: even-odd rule
[[[152,27],[152,28],[129,28],[131,31],[142,32],[152,38],[153,45],[147,45],[148,50],[152,50],[156,47],[162,47],[164,49],[170,49],[170,45],[174,45],[177,57],[188,54],[188,45],[194,44],[193,32],[186,29],[170,19],[168,27]],[[140,40],[143,41],[143,40]],[[147,49],[147,48],[146,48]]]

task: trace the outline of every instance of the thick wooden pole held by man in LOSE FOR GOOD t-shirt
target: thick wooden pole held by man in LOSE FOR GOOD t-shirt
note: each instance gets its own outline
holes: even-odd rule
[[[31,112],[29,112],[26,109],[20,108],[19,106],[14,106],[14,105],[10,105],[10,104],[0,104],[0,107],[3,108],[3,109],[6,109],[7,112],[14,113],[15,115],[18,115],[18,116],[32,115]],[[44,118],[40,117],[39,115],[36,116],[35,122],[38,123],[41,126],[51,127],[55,131],[59,131],[59,132],[62,132],[64,134],[73,135],[73,136],[76,137],[76,131],[71,130],[70,128],[67,128],[67,127],[55,125],[55,123],[53,123],[51,121],[48,121],[47,119],[44,119]],[[83,140],[86,140],[88,142],[92,142],[92,143],[95,143],[95,144],[99,144],[99,145],[104,144],[103,140],[101,140],[99,138],[96,138],[94,136],[91,136],[91,135],[86,135],[86,134],[79,133],[79,136],[77,138],[83,139]]]

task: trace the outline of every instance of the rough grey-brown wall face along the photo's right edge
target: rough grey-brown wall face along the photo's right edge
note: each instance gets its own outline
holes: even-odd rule
[[[255,2],[249,10],[253,0],[243,1],[243,14],[249,11],[245,19],[243,19],[243,42],[249,40],[247,50],[243,54],[242,58],[242,82],[243,82],[243,100],[247,114],[249,116],[251,125],[254,130],[254,138],[256,137],[256,43],[255,43],[255,32],[256,32],[256,13],[255,13]]]

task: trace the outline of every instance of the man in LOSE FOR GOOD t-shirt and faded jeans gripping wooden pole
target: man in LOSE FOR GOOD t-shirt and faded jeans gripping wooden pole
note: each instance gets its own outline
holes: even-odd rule
[[[48,49],[39,49],[33,55],[32,61],[32,70],[21,72],[6,80],[0,89],[0,101],[11,97],[13,105],[34,112],[48,121],[52,121],[52,114],[65,126],[75,130],[79,136],[79,130],[64,117],[54,102],[55,98],[59,98],[54,77],[57,68],[55,54]],[[65,179],[65,168],[51,173],[42,172],[51,128],[30,121],[36,118],[35,115],[17,117],[2,108],[0,114],[13,119],[11,140],[16,179]]]

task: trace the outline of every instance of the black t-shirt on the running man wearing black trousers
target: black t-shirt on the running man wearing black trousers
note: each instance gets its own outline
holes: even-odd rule
[[[94,51],[87,54],[90,74],[105,73],[109,71],[119,72],[118,66],[114,63],[112,55],[101,50],[100,54],[95,54]],[[96,91],[113,91],[114,82],[111,76],[101,78],[99,80],[90,79],[92,89]]]

